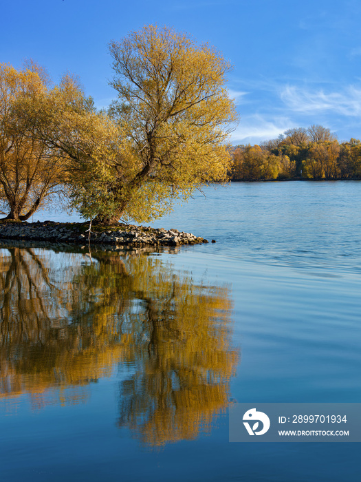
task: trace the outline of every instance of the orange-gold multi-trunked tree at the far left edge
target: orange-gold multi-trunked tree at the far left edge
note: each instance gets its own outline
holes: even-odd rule
[[[25,103],[30,112],[49,89],[47,75],[35,63],[23,70],[0,64],[0,201],[10,209],[6,219],[27,220],[63,190],[63,156],[34,135],[26,109],[20,109]]]

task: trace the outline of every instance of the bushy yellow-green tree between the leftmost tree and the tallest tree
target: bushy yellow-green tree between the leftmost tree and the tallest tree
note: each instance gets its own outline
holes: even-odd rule
[[[33,138],[65,160],[70,205],[88,218],[111,212],[111,167],[122,162],[129,171],[132,156],[118,125],[105,112],[96,111],[78,80],[63,76],[41,98],[21,103],[18,112],[30,123]]]

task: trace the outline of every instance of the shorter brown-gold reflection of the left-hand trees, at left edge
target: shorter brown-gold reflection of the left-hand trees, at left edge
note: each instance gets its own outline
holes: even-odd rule
[[[86,390],[69,390],[69,385],[86,386],[109,375],[124,353],[114,326],[122,303],[111,305],[113,293],[108,306],[100,306],[101,297],[87,297],[82,292],[85,257],[67,256],[74,262],[67,269],[50,269],[52,256],[45,250],[9,248],[0,260],[0,391],[29,393],[35,406],[47,403],[41,394],[53,387],[60,388],[62,403],[86,399]],[[104,297],[111,290],[102,290],[102,279],[94,286]],[[102,329],[103,313],[117,310],[118,319]]]

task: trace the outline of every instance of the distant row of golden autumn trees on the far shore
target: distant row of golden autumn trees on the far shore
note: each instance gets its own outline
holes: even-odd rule
[[[260,145],[233,150],[231,180],[358,179],[361,141],[339,143],[321,125],[289,129]]]

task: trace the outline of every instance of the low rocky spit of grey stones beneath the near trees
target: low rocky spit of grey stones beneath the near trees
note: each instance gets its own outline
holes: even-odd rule
[[[0,239],[87,244],[89,222],[0,222]],[[181,246],[208,243],[191,233],[177,229],[151,228],[119,224],[116,227],[91,227],[91,244],[142,246]],[[212,240],[215,242],[215,240]]]

